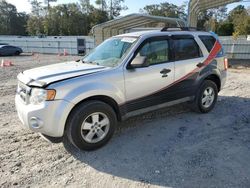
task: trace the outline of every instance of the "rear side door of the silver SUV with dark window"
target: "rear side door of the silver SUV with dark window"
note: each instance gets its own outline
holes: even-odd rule
[[[173,35],[175,83],[172,89],[178,98],[194,95],[199,65],[204,62],[203,53],[192,35]]]

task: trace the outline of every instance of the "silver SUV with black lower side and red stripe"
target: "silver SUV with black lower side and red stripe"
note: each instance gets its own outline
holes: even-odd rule
[[[107,39],[77,62],[18,75],[16,108],[27,128],[82,150],[106,144],[118,121],[177,103],[207,113],[227,60],[213,33],[163,28]]]

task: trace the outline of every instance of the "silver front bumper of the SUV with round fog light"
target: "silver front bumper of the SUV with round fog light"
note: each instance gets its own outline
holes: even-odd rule
[[[40,105],[25,104],[19,95],[15,97],[18,117],[22,124],[51,137],[62,137],[67,117],[74,107],[65,100],[46,101]]]

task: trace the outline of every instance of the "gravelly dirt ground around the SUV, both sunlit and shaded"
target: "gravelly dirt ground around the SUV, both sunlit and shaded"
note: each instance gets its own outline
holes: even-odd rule
[[[250,70],[229,70],[211,113],[147,113],[81,152],[23,129],[14,106],[20,71],[78,57],[4,58],[14,66],[0,67],[0,187],[250,187]]]

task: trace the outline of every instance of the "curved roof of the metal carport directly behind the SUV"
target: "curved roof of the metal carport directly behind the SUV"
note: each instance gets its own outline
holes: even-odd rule
[[[95,25],[92,28],[94,32],[96,28],[104,29],[104,28],[131,28],[136,25],[149,24],[152,22],[167,22],[177,24],[178,26],[185,26],[186,23],[179,18],[169,18],[162,16],[150,16],[148,14],[129,14],[123,17],[118,17],[113,20]]]

